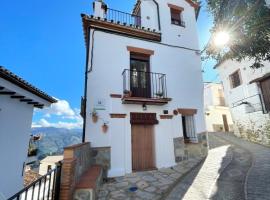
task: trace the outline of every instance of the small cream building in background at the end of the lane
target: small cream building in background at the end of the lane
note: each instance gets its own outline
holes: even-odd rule
[[[220,83],[204,84],[204,109],[208,132],[231,132],[233,121]]]

